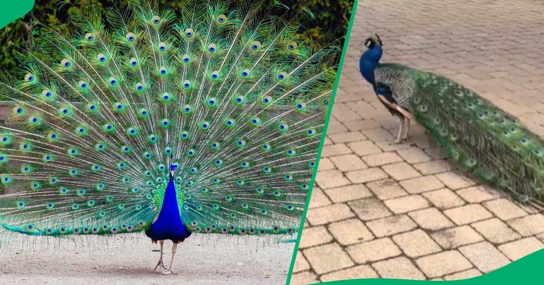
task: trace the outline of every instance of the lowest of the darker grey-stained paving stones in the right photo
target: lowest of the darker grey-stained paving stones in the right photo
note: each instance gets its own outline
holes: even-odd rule
[[[484,240],[478,232],[466,225],[433,232],[431,237],[444,249],[454,249]]]

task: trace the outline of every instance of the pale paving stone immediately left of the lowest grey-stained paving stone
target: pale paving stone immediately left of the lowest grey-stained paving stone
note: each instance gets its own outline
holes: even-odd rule
[[[440,245],[421,229],[399,233],[393,236],[393,241],[400,246],[406,256],[411,258],[434,254],[442,250]]]

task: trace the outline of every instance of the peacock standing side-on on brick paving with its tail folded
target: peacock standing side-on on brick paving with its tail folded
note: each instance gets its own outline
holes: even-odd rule
[[[521,204],[544,208],[544,141],[517,118],[469,88],[401,64],[380,63],[379,35],[364,41],[360,72],[392,115],[396,142],[412,119],[421,124],[459,168]]]

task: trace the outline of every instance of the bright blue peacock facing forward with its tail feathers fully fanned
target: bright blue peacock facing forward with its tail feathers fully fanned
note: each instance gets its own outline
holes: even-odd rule
[[[4,236],[143,232],[175,274],[193,233],[298,232],[341,49],[279,2],[157,6],[73,7],[2,75]]]

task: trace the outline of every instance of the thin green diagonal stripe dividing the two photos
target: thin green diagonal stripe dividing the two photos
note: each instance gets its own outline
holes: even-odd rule
[[[329,103],[329,110],[327,110],[327,117],[325,118],[325,126],[323,128],[323,134],[321,135],[321,143],[319,144],[319,148],[317,150],[317,157],[316,157],[316,165],[314,166],[313,174],[312,174],[312,180],[310,181],[310,189],[308,189],[308,195],[306,198],[306,205],[304,206],[304,211],[302,212],[302,218],[300,220],[300,226],[298,235],[296,237],[296,243],[295,243],[295,250],[293,251],[293,256],[291,257],[291,266],[289,267],[289,274],[287,275],[287,281],[285,282],[287,285],[289,285],[289,282],[291,282],[291,276],[293,275],[293,269],[295,267],[295,258],[296,258],[296,252],[299,250],[299,244],[300,244],[300,238],[302,237],[302,228],[304,228],[304,221],[306,220],[306,213],[308,212],[308,205],[310,204],[310,197],[312,197],[312,191],[313,191],[313,185],[316,181],[316,175],[317,175],[317,168],[319,166],[319,160],[321,157],[321,152],[323,151],[323,144],[325,143],[325,136],[327,134],[327,128],[329,127],[329,121],[331,118],[332,113],[332,105],[335,102],[336,98],[336,90],[338,89],[338,83],[340,81],[340,75],[342,74],[342,67],[344,66],[344,58],[345,54],[348,50],[348,43],[349,38],[351,34],[351,28],[353,27],[353,20],[355,18],[355,12],[357,10],[357,3],[359,1],[355,0],[353,3],[353,8],[351,8],[351,16],[349,19],[349,25],[348,30],[344,36],[344,47],[342,48],[342,55],[340,56],[340,63],[338,64],[338,72],[336,73],[336,80],[335,85],[333,86],[332,96],[331,96],[331,102]]]

